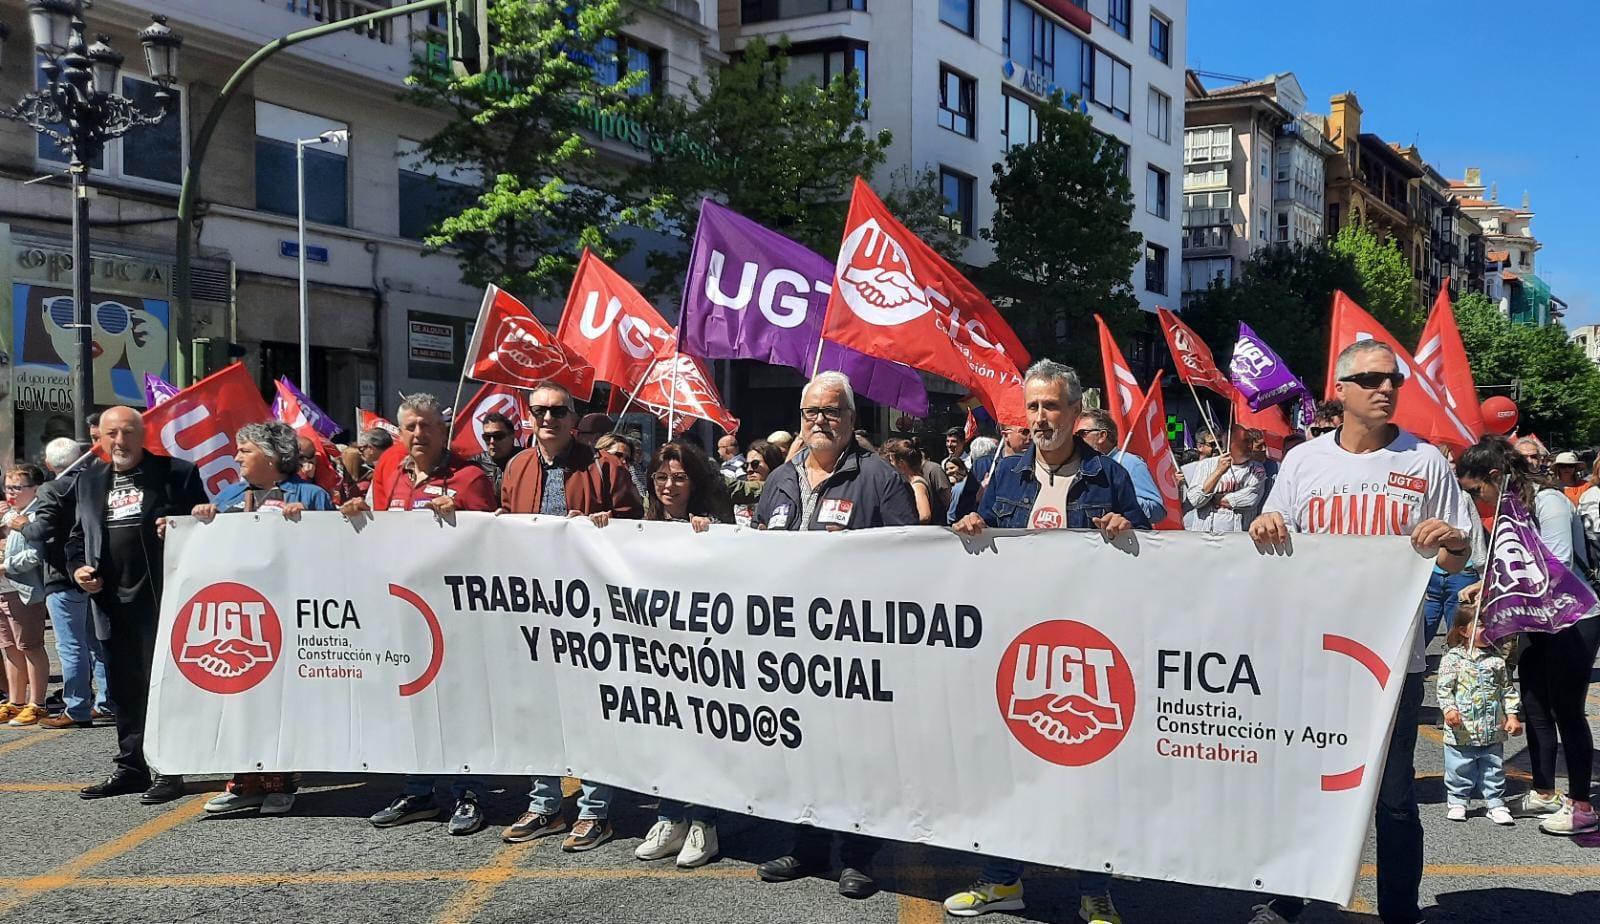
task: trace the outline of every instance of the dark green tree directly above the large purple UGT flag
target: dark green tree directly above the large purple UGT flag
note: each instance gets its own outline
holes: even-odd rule
[[[890,133],[864,125],[867,102],[858,75],[827,86],[789,75],[789,40],[752,38],[726,67],[710,70],[688,96],[651,102],[658,142],[635,189],[666,227],[690,237],[702,197],[803,243],[838,253],[856,176],[883,163]],[[914,229],[917,230],[917,229]],[[651,256],[653,286],[682,283],[688,254]]]

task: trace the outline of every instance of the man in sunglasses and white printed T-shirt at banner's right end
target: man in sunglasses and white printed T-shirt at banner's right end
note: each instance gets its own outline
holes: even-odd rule
[[[1334,377],[1344,403],[1341,427],[1283,457],[1250,536],[1264,547],[1288,544],[1290,532],[1410,536],[1419,553],[1437,555],[1438,568],[1459,572],[1472,553],[1472,510],[1443,454],[1390,422],[1405,382],[1394,350],[1357,341],[1339,353]],[[1422,820],[1413,763],[1426,647],[1418,631],[1378,783],[1378,916],[1384,924],[1422,919]],[[1301,898],[1274,898],[1256,906],[1251,924],[1294,921],[1304,908]]]

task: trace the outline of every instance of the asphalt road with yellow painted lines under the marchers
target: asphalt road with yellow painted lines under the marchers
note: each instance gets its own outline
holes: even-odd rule
[[[1600,684],[1595,689],[1592,715],[1600,713]],[[1434,715],[1424,710],[1429,724],[1416,758],[1429,921],[1600,921],[1600,838],[1550,838],[1526,820],[1499,828],[1482,809],[1467,823],[1445,820]],[[1522,748],[1522,742],[1509,748],[1514,791],[1526,785]],[[109,771],[114,750],[109,726],[0,726],[0,818],[10,834],[0,841],[0,921],[914,924],[942,921],[939,902],[978,870],[962,854],[896,844],[878,858],[885,890],[846,902],[829,881],[760,882],[754,865],[782,852],[784,833],[766,822],[723,817],[722,860],[683,873],[670,860],[634,860],[634,847],[654,820],[646,796],[619,798],[618,839],[589,854],[562,854],[558,838],[507,846],[498,830],[525,806],[523,783],[515,779],[491,782],[490,826],[467,838],[448,836],[442,820],[387,831],[368,825],[366,815],[395,793],[394,777],[309,775],[285,817],[206,817],[202,806],[221,790],[221,779],[190,779],[192,795],[166,806],[78,799],[80,787]],[[1130,803],[1126,823],[1158,836],[1163,818],[1141,815]],[[1302,921],[1378,921],[1370,913],[1370,839],[1366,860],[1352,908],[1320,906]],[[1243,922],[1261,902],[1251,894],[1154,881],[1120,881],[1115,898],[1128,924]],[[1077,921],[1075,876],[1034,870],[1027,911],[987,919]]]

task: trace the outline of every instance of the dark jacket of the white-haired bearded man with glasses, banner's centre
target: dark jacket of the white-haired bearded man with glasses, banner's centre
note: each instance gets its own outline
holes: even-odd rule
[[[829,529],[830,526],[842,529],[917,526],[917,502],[912,499],[910,484],[906,484],[906,480],[888,462],[867,452],[854,441],[845,448],[834,473],[822,483],[811,521],[802,526],[803,489],[800,476],[810,452],[810,449],[802,449],[790,462],[779,465],[766,476],[762,502],[755,505],[757,526],[787,531]],[[827,512],[829,516],[843,518],[845,523],[824,520],[824,507],[829,500],[838,502]]]

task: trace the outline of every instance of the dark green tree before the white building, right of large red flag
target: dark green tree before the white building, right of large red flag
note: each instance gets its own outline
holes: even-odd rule
[[[1142,237],[1131,230],[1133,190],[1122,145],[1094,131],[1077,98],[1038,109],[1038,139],[995,165],[995,217],[982,230],[995,261],[979,286],[1035,356],[1098,379],[1093,315],[1117,333],[1142,325],[1130,277]],[[1083,336],[1083,331],[1091,331]]]

